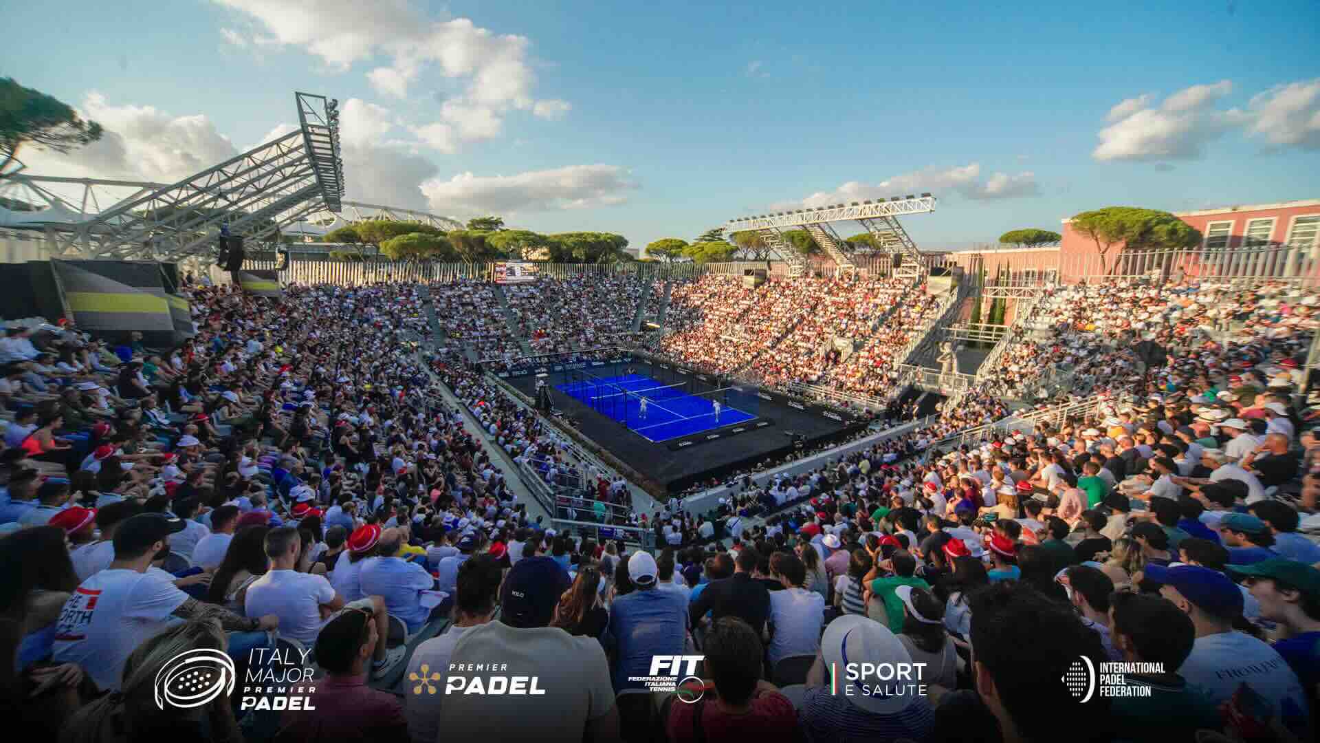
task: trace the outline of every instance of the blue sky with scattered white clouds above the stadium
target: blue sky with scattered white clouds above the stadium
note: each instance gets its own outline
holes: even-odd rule
[[[0,74],[116,132],[32,172],[177,178],[293,122],[297,89],[352,102],[352,198],[634,245],[917,190],[932,247],[1320,197],[1313,0],[1022,5],[24,4]]]

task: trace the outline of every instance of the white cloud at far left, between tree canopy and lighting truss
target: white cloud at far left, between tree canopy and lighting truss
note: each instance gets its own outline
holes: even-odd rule
[[[112,106],[90,93],[79,114],[104,127],[100,141],[69,155],[28,148],[29,172],[75,177],[176,181],[238,155],[202,115],[172,116],[150,106]]]

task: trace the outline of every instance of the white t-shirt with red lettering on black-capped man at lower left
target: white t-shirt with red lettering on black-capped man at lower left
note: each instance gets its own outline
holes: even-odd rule
[[[160,574],[102,570],[83,580],[59,612],[54,660],[78,664],[98,686],[117,690],[128,656],[169,627],[186,600],[187,594]]]

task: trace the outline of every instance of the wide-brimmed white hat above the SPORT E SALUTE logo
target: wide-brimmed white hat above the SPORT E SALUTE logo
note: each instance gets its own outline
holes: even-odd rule
[[[834,669],[840,684],[851,686],[851,689],[842,690],[847,701],[866,713],[900,713],[917,699],[916,690],[911,689],[909,685],[928,682],[925,680],[899,681],[896,678],[884,681],[875,672],[870,676],[858,674],[853,680],[850,674],[842,673],[845,668],[859,669],[861,664],[880,666],[880,664],[912,662],[912,656],[903,646],[903,643],[890,632],[888,627],[861,615],[843,615],[829,623],[821,637],[821,658],[829,668]],[[863,691],[870,691],[870,694]]]

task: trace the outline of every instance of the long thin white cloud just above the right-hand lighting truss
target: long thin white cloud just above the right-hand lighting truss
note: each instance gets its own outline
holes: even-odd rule
[[[995,172],[987,180],[981,178],[981,164],[937,169],[927,168],[913,173],[903,173],[878,184],[849,181],[834,190],[816,192],[803,201],[780,202],[771,209],[792,209],[797,206],[829,206],[832,204],[851,204],[854,201],[874,201],[894,196],[925,192],[954,192],[966,198],[1016,198],[1035,196],[1040,192],[1035,173],[1027,171],[1018,175]],[[936,193],[936,196],[941,196]]]

